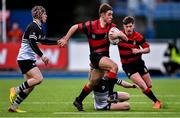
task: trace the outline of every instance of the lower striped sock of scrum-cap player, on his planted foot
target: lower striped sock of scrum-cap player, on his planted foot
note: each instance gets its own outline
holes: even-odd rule
[[[21,104],[21,102],[26,99],[27,96],[28,94],[21,91],[19,95],[16,97],[15,101],[13,102],[12,108],[16,109]]]

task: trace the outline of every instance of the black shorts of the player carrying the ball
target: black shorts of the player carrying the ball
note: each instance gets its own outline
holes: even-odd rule
[[[99,69],[99,61],[104,56],[109,57],[109,54],[108,53],[96,53],[96,52],[93,52],[90,54],[90,61],[95,69]]]

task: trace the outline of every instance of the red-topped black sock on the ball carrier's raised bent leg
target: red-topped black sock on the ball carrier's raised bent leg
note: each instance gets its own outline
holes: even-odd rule
[[[107,78],[108,78],[108,84],[109,84],[109,95],[113,94],[114,84],[117,82],[116,78],[117,74],[113,72],[108,72]]]

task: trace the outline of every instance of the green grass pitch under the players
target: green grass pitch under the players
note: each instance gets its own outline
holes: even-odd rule
[[[21,104],[20,108],[26,110],[27,113],[8,113],[9,88],[19,85],[23,79],[1,79],[0,117],[180,117],[180,79],[152,80],[154,93],[164,103],[163,109],[160,110],[153,109],[153,103],[138,89],[124,89],[116,86],[116,90],[130,93],[130,111],[95,111],[92,94],[90,94],[84,100],[85,112],[79,112],[72,102],[87,81],[86,79],[45,79]]]

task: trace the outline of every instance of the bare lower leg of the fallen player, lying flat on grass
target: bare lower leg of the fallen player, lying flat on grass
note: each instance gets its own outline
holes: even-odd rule
[[[130,110],[130,104],[128,102],[111,103],[110,110]]]

